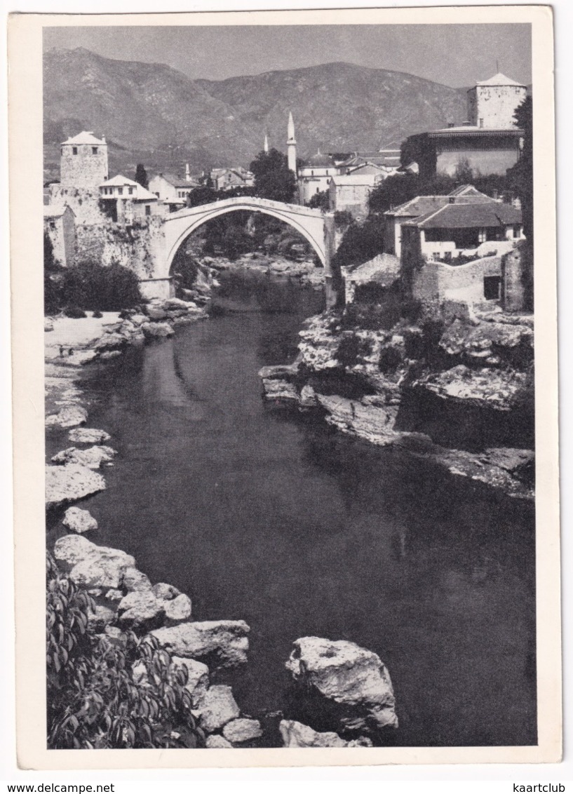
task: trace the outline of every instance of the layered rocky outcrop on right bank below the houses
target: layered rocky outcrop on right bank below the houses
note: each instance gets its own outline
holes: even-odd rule
[[[533,405],[533,318],[490,308],[460,318],[449,310],[446,320],[401,321],[390,330],[344,330],[335,312],[310,318],[294,364],[260,370],[263,395],[300,410],[319,410],[344,433],[407,449],[457,476],[533,498],[532,449],[491,445],[471,453],[441,445],[439,438],[404,422],[397,426],[405,399],[411,406],[413,397],[438,399],[474,416],[491,411],[500,419]],[[333,395],[335,373],[360,396]]]

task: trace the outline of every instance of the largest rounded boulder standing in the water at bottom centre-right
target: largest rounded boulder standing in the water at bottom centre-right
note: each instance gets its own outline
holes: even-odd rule
[[[380,657],[356,642],[302,637],[287,669],[310,696],[317,696],[341,730],[397,728],[394,689]]]

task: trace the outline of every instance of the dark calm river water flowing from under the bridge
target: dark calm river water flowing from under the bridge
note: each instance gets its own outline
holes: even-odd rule
[[[265,312],[238,292],[249,311],[130,350],[84,384],[90,426],[119,450],[107,490],[83,503],[92,539],[187,592],[194,619],[248,622],[232,679],[245,713],[289,715],[284,662],[316,635],[386,662],[398,745],[535,744],[533,507],[265,405],[258,370],[293,360],[321,294],[289,287]]]

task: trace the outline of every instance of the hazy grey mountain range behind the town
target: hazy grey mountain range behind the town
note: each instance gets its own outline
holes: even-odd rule
[[[298,155],[398,148],[405,137],[467,118],[465,90],[354,64],[190,79],[165,64],[112,60],[85,48],[44,54],[44,165],[57,177],[59,145],[82,129],[106,136],[110,174],[192,172],[244,165],[286,150],[292,110]]]

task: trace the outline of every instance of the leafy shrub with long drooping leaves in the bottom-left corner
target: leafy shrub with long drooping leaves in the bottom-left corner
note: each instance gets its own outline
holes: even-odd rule
[[[150,635],[125,633],[112,644],[90,633],[94,599],[63,576],[48,555],[46,571],[48,748],[197,747],[187,670]],[[144,668],[135,680],[133,665]]]

